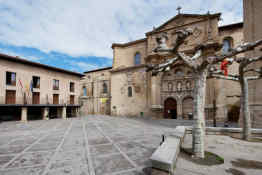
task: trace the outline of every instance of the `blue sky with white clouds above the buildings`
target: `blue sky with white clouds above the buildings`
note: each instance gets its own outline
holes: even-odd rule
[[[242,21],[242,0],[0,0],[0,53],[77,72],[111,66],[112,43],[143,38],[177,14]]]

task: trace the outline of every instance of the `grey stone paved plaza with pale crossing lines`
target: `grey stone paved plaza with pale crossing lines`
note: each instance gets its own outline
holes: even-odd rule
[[[0,175],[147,174],[161,135],[171,131],[157,121],[106,116],[1,123]],[[262,160],[262,143],[227,136],[207,136],[207,142],[225,164],[201,166],[180,157],[176,174],[230,174],[232,160]],[[236,169],[262,174],[261,169]]]

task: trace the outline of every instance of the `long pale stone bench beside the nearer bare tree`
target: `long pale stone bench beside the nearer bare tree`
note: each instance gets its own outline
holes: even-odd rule
[[[184,126],[177,126],[172,133],[165,134],[165,141],[150,158],[153,168],[173,173],[185,133]]]

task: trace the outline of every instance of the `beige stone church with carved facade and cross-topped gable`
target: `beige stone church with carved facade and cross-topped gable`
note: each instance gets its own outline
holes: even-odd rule
[[[180,51],[188,55],[192,55],[194,48],[201,43],[223,44],[222,51],[241,44],[243,23],[219,27],[220,15],[178,14],[147,32],[145,38],[122,44],[114,43],[113,66],[86,72],[85,78],[81,80],[85,92],[96,92],[83,94],[82,112],[190,119],[193,113],[195,81],[192,70],[178,62],[170,71],[152,76],[151,72],[146,72],[146,65],[163,63],[172,58],[174,55],[160,56],[153,51],[157,47],[156,39],[164,33],[168,38],[167,45],[172,47],[176,31],[185,28],[193,30],[193,35],[180,48]],[[230,73],[237,71],[236,63],[229,67]],[[92,76],[93,79],[88,78]],[[240,106],[239,85],[231,81],[209,79],[206,90],[205,117],[212,119],[216,111],[217,120],[236,120],[232,115],[236,115],[235,109]]]

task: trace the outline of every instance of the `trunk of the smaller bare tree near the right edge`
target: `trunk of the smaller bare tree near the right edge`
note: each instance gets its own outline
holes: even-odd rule
[[[242,91],[241,110],[243,115],[243,139],[248,140],[251,136],[251,120],[248,103],[248,82],[244,76],[240,77]]]

